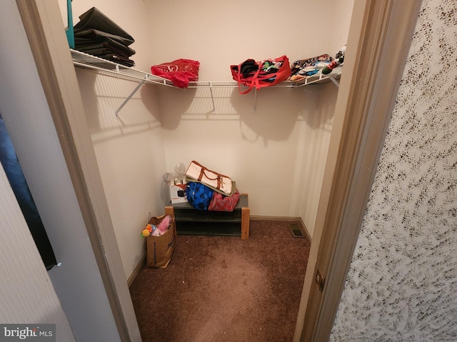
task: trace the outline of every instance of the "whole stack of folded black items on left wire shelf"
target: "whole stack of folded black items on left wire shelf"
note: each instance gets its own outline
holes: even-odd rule
[[[74,26],[75,50],[123,66],[135,65],[129,58],[135,54],[134,49],[129,47],[135,41],[129,33],[95,7],[81,14],[79,19]]]

